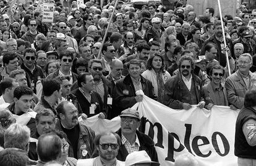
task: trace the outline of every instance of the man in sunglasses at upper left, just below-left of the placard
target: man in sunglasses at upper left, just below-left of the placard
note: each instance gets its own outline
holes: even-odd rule
[[[31,18],[28,20],[28,28],[29,30],[23,34],[22,38],[24,41],[29,41],[30,44],[33,44],[35,42],[35,37],[39,33],[36,28],[37,28],[37,23],[35,18]]]

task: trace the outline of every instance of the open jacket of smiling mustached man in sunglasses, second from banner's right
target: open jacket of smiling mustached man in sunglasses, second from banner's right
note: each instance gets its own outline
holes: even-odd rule
[[[227,92],[226,87],[224,84],[221,84],[223,87],[223,93],[224,93],[224,100],[225,100],[225,106],[228,106],[228,98],[227,98]],[[205,99],[205,105],[208,105],[209,103],[213,103],[216,105],[216,98],[213,93],[213,87],[211,86],[211,82],[209,82],[206,85],[203,85],[202,87],[202,97]]]

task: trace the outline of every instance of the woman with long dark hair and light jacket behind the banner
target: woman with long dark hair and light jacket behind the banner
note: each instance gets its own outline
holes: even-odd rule
[[[155,56],[147,61],[147,70],[142,73],[142,76],[152,82],[155,95],[158,97],[157,101],[163,103],[164,84],[171,75],[164,70],[163,57],[160,54],[155,53]]]

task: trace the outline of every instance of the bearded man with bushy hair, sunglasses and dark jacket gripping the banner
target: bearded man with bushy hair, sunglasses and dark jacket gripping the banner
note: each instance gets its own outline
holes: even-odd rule
[[[191,56],[183,55],[178,61],[179,73],[164,85],[164,105],[173,109],[190,109],[192,105],[205,106],[201,97],[201,79],[194,74],[195,63]]]

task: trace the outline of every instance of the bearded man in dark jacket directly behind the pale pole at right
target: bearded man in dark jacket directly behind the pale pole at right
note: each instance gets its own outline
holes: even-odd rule
[[[205,46],[209,42],[212,42],[217,45],[218,52],[217,52],[215,59],[220,62],[221,66],[225,67],[226,66],[226,54],[225,54],[225,50],[224,50],[224,41],[223,41],[223,34],[222,34],[222,28],[221,28],[220,21],[215,22],[214,31],[215,31],[215,34],[205,41],[205,44],[203,45],[202,50],[199,53],[199,55],[205,55]],[[234,57],[234,45],[233,45],[233,42],[231,41],[231,39],[226,38],[226,44],[227,44],[228,49],[230,50],[231,57],[236,59]]]

